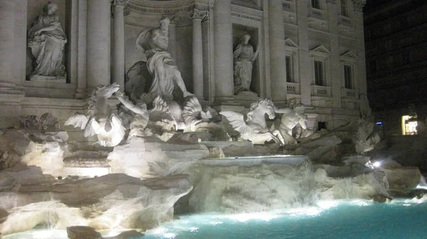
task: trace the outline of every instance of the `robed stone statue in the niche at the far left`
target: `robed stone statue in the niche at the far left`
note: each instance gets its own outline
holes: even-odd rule
[[[36,18],[28,30],[28,47],[36,58],[31,75],[65,78],[63,52],[67,36],[56,15],[58,5],[49,1],[44,13]]]

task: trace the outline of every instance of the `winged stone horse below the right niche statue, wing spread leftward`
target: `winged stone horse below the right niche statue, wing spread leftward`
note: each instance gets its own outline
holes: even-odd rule
[[[275,109],[271,99],[267,98],[260,99],[251,105],[246,120],[238,112],[221,111],[219,113],[230,121],[231,126],[240,133],[242,139],[249,140],[253,144],[264,144],[271,140],[285,144],[282,134],[278,130],[270,132],[265,122],[265,114],[270,119],[275,118]]]

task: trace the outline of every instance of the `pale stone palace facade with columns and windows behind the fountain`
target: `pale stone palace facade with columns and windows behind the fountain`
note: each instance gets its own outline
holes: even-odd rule
[[[163,16],[172,20],[169,52],[204,104],[244,111],[259,97],[276,105],[295,99],[311,115],[310,127],[334,129],[358,118],[366,102],[365,0],[56,0],[68,37],[65,83],[28,77],[27,30],[46,4],[0,3],[1,124],[43,112],[63,121],[85,110],[97,85],[123,86],[127,70],[145,60],[138,33]],[[251,91],[234,95],[233,49],[244,33],[260,51]]]

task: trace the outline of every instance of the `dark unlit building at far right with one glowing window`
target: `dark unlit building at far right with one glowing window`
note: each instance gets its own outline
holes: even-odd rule
[[[371,1],[365,10],[372,111],[384,134],[413,134],[403,132],[402,121],[421,124],[427,117],[427,2]]]

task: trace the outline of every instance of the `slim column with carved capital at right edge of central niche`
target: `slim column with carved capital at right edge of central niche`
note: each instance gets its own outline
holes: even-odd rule
[[[191,12],[193,19],[193,93],[199,99],[203,97],[203,48],[201,41],[201,21],[206,18],[207,12],[194,9]]]

